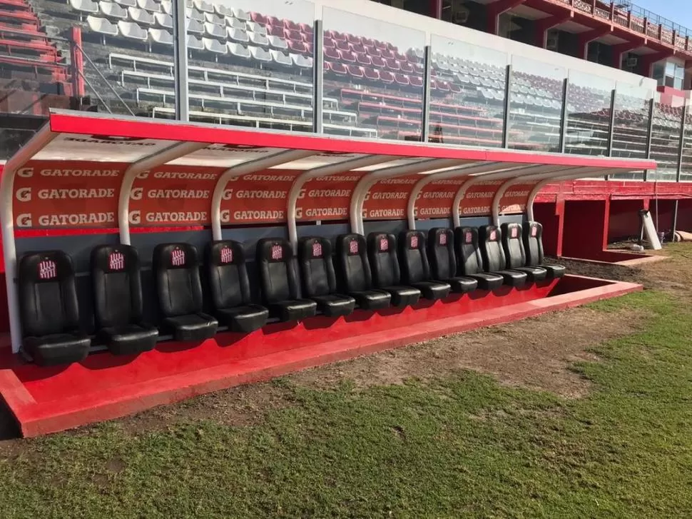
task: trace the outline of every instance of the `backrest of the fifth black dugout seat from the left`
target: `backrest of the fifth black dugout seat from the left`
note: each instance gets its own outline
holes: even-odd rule
[[[298,297],[298,276],[290,243],[283,238],[257,242],[257,264],[265,304]]]

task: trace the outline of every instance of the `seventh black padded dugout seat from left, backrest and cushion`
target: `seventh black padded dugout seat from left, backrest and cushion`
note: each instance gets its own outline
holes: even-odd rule
[[[337,236],[335,273],[339,290],[354,298],[358,308],[381,310],[390,306],[390,293],[372,288],[365,236],[355,233]]]

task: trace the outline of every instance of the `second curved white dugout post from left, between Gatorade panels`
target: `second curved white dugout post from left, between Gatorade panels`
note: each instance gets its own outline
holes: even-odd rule
[[[174,161],[176,158],[189,155],[194,151],[208,146],[205,142],[179,142],[168,146],[168,148],[146,156],[133,162],[123,173],[123,180],[120,184],[120,195],[118,196],[118,229],[120,230],[120,243],[130,245],[130,191],[135,182],[135,178],[145,171],[163,166],[163,164]]]

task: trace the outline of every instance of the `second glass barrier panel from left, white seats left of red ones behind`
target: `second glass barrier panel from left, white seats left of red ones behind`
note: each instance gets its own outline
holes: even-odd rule
[[[312,131],[314,4],[194,0],[186,16],[190,121]]]

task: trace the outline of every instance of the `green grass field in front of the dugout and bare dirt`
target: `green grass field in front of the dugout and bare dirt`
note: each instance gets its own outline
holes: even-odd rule
[[[692,517],[689,303],[651,290],[591,306],[648,316],[574,366],[584,398],[471,371],[365,389],[289,378],[273,383],[289,405],[252,425],[15,442],[0,518]]]

